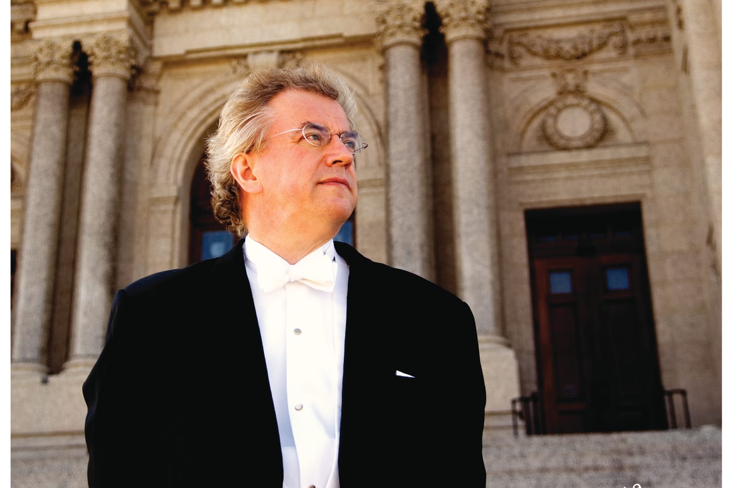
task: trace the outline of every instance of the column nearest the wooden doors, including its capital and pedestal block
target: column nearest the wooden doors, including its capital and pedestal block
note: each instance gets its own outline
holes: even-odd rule
[[[473,310],[485,377],[486,432],[509,432],[518,363],[501,326],[498,225],[486,83],[488,0],[438,4],[447,43],[458,296]]]

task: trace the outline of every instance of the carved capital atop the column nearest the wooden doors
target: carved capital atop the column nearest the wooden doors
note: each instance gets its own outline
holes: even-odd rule
[[[472,38],[485,40],[488,34],[488,0],[442,0],[437,10],[442,16],[440,31],[445,42]]]

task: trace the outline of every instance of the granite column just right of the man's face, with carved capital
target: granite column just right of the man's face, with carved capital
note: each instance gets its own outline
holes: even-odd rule
[[[376,16],[386,70],[389,260],[435,278],[432,176],[420,61],[423,3],[382,2]]]

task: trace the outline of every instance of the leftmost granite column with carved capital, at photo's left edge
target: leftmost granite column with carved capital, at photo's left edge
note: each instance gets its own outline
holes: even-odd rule
[[[15,302],[13,375],[42,376],[48,370],[45,356],[73,81],[71,53],[72,42],[51,40],[34,53],[38,87]]]

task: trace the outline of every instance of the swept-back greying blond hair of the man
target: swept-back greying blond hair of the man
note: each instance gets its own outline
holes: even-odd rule
[[[274,122],[269,101],[288,89],[335,100],[354,127],[356,97],[343,79],[320,64],[296,69],[258,69],[247,75],[223,106],[219,127],[206,140],[203,163],[211,181],[214,217],[236,236],[244,236],[247,226],[240,204],[241,189],[231,176],[231,162],[236,154],[264,149],[266,134]]]

